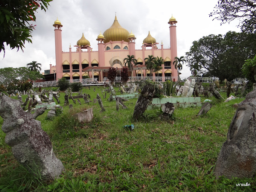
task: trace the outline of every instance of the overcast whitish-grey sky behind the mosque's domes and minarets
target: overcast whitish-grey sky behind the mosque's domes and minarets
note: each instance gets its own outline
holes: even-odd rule
[[[218,0],[54,0],[46,12],[38,9],[36,13],[36,29],[33,32],[32,44],[25,43],[24,52],[5,47],[5,58],[0,53],[0,68],[24,67],[31,61],[42,64],[42,71],[55,65],[54,27],[56,18],[61,21],[62,50],[75,51],[74,45],[82,37],[90,41],[93,50],[98,50],[97,36],[108,29],[114,21],[115,12],[119,24],[133,32],[136,49],[141,49],[143,39],[148,31],[164,48],[170,47],[169,18],[172,14],[178,21],[177,53],[185,56],[193,41],[210,34],[226,34],[233,30],[240,32],[238,21],[220,25],[220,21],[209,17]],[[212,21],[213,20],[213,21]],[[188,67],[183,66],[182,77],[190,76]]]

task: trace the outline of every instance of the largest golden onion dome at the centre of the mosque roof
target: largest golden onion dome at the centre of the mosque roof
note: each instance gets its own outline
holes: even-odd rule
[[[111,27],[109,27],[103,33],[105,40],[104,43],[108,43],[109,41],[126,41],[128,42],[129,32],[128,30],[124,29],[117,21],[115,17],[114,23]]]

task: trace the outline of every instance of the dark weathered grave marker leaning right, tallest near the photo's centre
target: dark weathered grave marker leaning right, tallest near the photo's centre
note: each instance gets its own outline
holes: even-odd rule
[[[144,113],[154,94],[155,88],[153,85],[144,85],[134,107],[133,119],[140,117]]]

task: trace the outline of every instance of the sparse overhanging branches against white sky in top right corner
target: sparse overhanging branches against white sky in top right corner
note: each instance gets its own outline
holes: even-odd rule
[[[239,19],[242,32],[256,32],[256,0],[218,0],[214,9],[210,17],[215,16],[221,24]]]

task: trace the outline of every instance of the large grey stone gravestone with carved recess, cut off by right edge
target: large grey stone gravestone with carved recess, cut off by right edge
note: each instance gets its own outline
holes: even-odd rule
[[[218,155],[216,177],[251,178],[256,172],[256,90],[238,106]]]

